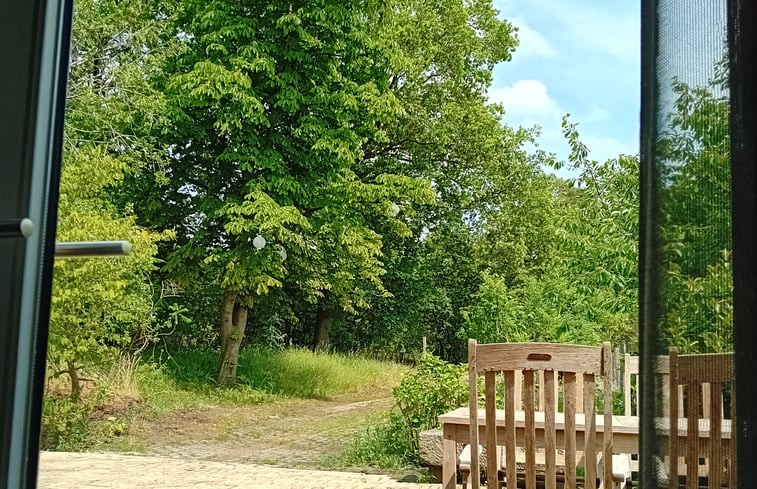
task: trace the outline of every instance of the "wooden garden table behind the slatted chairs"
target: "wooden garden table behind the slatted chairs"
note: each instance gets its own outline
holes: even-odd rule
[[[535,431],[537,448],[544,447],[544,413],[535,412]],[[469,443],[470,418],[468,408],[463,407],[439,416],[442,424],[442,487],[454,489],[457,471],[456,443]],[[596,416],[597,439],[602,439],[604,433],[604,415]],[[583,413],[576,413],[576,447],[584,445],[584,427],[586,418]],[[724,449],[730,448],[731,422],[724,420],[722,425],[722,437]],[[479,440],[484,440],[484,428],[486,426],[486,414],[484,409],[478,411]],[[505,411],[497,410],[497,441],[505,440]],[[656,418],[658,446],[662,452],[667,452],[667,439],[670,435],[670,421],[668,418]],[[678,423],[678,447],[681,456],[686,451],[686,419],[680,419]],[[525,446],[526,417],[524,411],[515,412],[515,439],[519,447]],[[565,446],[565,414],[555,413],[555,438],[557,448]],[[612,446],[614,453],[639,453],[639,417],[638,416],[613,416],[612,417]],[[706,453],[709,446],[710,428],[709,420],[699,420],[699,450]],[[727,452],[725,452],[727,453]]]

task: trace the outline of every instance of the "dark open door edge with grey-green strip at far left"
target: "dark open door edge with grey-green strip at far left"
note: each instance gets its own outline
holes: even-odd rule
[[[0,487],[14,489],[36,485],[70,18],[71,0],[0,4],[0,221],[22,231],[0,237]]]

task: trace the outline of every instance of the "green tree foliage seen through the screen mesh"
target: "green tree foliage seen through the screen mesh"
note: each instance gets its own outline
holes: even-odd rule
[[[659,141],[663,327],[685,352],[730,351],[733,325],[727,60],[705,86],[675,80]]]

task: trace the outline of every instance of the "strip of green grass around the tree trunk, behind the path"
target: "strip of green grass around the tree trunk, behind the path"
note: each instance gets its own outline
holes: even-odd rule
[[[159,361],[121,357],[108,368],[88,372],[79,403],[66,396],[62,381],[51,383],[43,415],[45,449],[87,450],[111,444],[139,418],[270,403],[281,399],[360,399],[394,385],[407,367],[359,356],[308,350],[244,350],[238,383],[214,382],[214,352],[189,352]]]

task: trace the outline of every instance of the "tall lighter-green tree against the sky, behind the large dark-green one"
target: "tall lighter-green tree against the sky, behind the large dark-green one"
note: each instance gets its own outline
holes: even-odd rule
[[[437,205],[406,214],[414,239],[385,241],[393,297],[375,297],[340,334],[395,352],[417,350],[428,336],[435,351],[459,359],[460,311],[481,272],[515,281],[548,255],[540,224],[550,194],[522,149],[534,134],[503,126],[502,107],[487,99],[492,68],[517,45],[513,26],[487,0],[397,1],[391,12],[377,31],[392,49],[390,86],[405,110],[360,172],[426,178]]]

